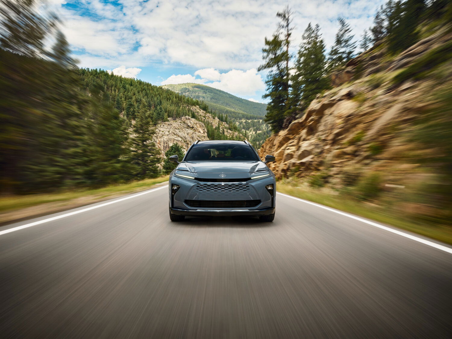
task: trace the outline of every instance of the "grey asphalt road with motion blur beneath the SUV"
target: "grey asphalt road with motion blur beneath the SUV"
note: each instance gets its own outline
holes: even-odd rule
[[[452,254],[277,200],[172,223],[161,188],[2,234],[0,337],[452,337]]]

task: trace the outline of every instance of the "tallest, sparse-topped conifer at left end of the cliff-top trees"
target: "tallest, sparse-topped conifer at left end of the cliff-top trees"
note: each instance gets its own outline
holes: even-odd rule
[[[265,121],[272,127],[273,132],[278,132],[282,128],[286,112],[290,108],[290,61],[292,59],[289,52],[293,30],[292,11],[286,7],[284,11],[278,12],[277,17],[281,22],[272,38],[265,38],[265,47],[262,49],[264,64],[258,69],[258,71],[269,71],[265,80],[267,89],[263,98],[270,99]]]

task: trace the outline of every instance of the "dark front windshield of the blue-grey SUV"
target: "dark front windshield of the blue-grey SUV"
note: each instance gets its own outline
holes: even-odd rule
[[[209,142],[193,145],[185,158],[185,161],[210,160],[259,161],[259,158],[249,145],[228,142]]]

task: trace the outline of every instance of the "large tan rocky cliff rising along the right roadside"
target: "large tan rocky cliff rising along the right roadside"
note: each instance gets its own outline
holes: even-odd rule
[[[451,38],[438,31],[397,56],[379,44],[349,61],[332,74],[334,88],[268,138],[259,155],[276,156],[270,167],[278,178],[323,172],[340,186],[351,172],[376,171],[388,183],[404,182],[417,166],[408,159],[416,151],[410,131],[434,107],[434,95],[452,87]]]

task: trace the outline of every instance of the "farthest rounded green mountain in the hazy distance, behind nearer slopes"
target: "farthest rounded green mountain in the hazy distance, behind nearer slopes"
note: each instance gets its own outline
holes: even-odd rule
[[[208,105],[210,112],[216,113],[221,120],[234,122],[256,148],[260,148],[270,136],[270,128],[264,122],[266,104],[255,103],[200,84],[185,83],[162,87]]]

